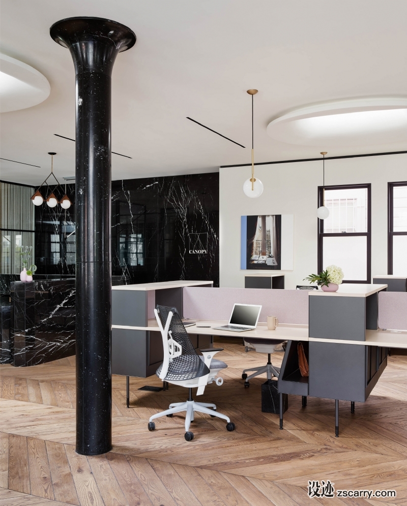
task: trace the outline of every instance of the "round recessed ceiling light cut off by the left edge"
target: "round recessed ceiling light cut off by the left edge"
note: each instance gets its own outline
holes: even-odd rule
[[[51,87],[38,70],[2,53],[0,64],[0,112],[33,107],[48,98]]]

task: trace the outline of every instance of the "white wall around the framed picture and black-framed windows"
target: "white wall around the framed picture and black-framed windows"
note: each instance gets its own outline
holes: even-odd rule
[[[317,271],[317,186],[323,183],[322,162],[259,165],[255,175],[264,184],[258,199],[243,193],[250,167],[220,169],[220,287],[244,287],[240,270],[240,217],[251,214],[294,214],[294,270],[285,274],[285,288],[295,289]],[[387,182],[407,180],[407,154],[327,160],[325,184],[371,183],[372,275],[387,273]],[[255,273],[280,271],[255,271]]]

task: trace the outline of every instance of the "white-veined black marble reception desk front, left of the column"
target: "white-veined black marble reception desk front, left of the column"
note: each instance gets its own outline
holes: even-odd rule
[[[11,283],[10,362],[16,367],[75,354],[75,280]]]

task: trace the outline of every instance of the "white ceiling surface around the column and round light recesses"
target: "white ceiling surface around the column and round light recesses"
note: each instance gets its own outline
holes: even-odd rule
[[[99,16],[134,30],[113,69],[112,179],[199,173],[255,161],[399,151],[407,139],[353,146],[292,145],[270,121],[292,109],[359,97],[407,97],[405,0],[2,0],[1,51],[51,85],[45,102],[1,115],[1,179],[39,184],[73,175],[75,76],[49,36],[55,21]],[[186,119],[208,125],[246,149]]]

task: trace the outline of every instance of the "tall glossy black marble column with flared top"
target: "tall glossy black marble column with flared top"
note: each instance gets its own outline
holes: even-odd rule
[[[111,449],[111,73],[133,31],[75,17],[50,28],[76,74],[76,451]]]

